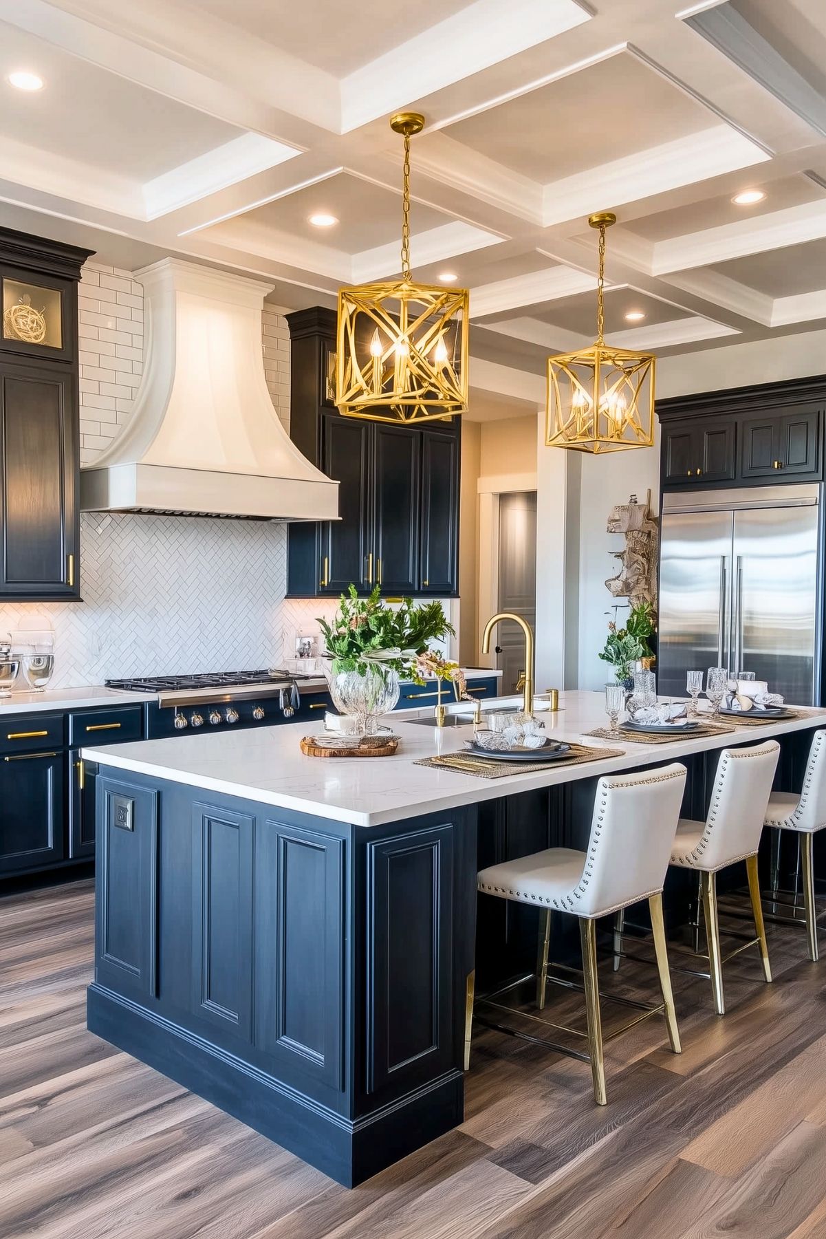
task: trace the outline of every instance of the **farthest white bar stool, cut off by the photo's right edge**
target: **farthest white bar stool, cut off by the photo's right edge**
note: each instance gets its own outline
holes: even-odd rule
[[[809,761],[802,778],[800,795],[789,792],[773,792],[765,810],[765,825],[775,830],[794,830],[800,841],[802,861],[802,898],[806,935],[809,938],[809,958],[817,960],[817,908],[815,904],[814,843],[815,834],[826,829],[826,731],[816,731]],[[776,891],[772,892],[772,903],[776,906]],[[793,904],[798,907],[798,904]],[[780,924],[801,924],[793,913],[791,917],[773,916]]]

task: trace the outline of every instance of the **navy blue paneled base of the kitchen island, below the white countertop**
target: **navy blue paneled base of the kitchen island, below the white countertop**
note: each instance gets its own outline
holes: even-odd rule
[[[476,809],[380,828],[100,767],[89,1028],[353,1186],[463,1118]]]

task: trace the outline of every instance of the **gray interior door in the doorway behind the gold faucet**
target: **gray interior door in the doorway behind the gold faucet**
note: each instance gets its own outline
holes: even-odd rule
[[[536,492],[499,496],[499,611],[515,611],[536,623]],[[497,667],[502,691],[513,693],[525,669],[525,638],[519,624],[497,629]]]

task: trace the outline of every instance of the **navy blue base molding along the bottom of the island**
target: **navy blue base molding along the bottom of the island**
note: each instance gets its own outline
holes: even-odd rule
[[[87,990],[89,1032],[197,1093],[344,1187],[357,1187],[462,1123],[463,1075],[447,1072],[355,1120],[100,985]]]

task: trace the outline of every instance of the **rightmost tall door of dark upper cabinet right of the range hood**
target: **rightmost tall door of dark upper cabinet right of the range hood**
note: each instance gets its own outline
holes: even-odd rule
[[[453,434],[424,430],[421,440],[421,567],[422,592],[458,590],[459,440]]]

